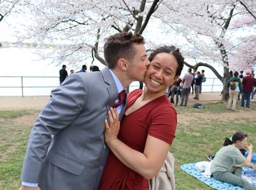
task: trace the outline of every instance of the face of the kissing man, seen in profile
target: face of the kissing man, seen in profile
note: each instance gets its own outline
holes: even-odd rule
[[[144,44],[133,44],[136,53],[133,59],[127,61],[127,75],[132,81],[143,81],[149,65]]]

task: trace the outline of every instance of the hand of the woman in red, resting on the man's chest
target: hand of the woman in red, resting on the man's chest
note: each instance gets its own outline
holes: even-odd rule
[[[106,143],[109,143],[113,139],[117,139],[120,129],[119,114],[115,109],[110,108],[110,111],[108,111],[108,117],[110,118],[110,123],[105,119],[104,137]]]

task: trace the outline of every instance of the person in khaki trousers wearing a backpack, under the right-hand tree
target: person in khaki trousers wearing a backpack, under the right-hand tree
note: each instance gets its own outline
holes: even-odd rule
[[[238,94],[241,93],[241,80],[238,78],[238,71],[235,71],[234,77],[231,77],[230,80],[227,82],[227,86],[230,89],[230,82],[234,81],[236,84],[236,89],[232,90],[230,89],[230,100],[228,100],[228,107],[227,109],[230,110],[230,106],[232,104],[232,111],[236,111],[236,100],[238,99]]]

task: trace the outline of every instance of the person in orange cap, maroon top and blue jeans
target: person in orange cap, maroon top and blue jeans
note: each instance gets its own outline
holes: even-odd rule
[[[241,108],[244,108],[244,100],[246,99],[246,109],[250,108],[250,95],[253,92],[254,80],[251,77],[251,72],[246,71],[246,76],[243,77],[241,85],[243,86],[243,95],[241,96]]]

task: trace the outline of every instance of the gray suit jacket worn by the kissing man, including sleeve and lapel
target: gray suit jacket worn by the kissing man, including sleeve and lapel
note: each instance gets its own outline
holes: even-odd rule
[[[30,134],[22,181],[42,190],[98,189],[108,157],[104,119],[117,98],[110,71],[70,75],[51,96]]]

